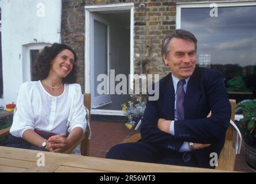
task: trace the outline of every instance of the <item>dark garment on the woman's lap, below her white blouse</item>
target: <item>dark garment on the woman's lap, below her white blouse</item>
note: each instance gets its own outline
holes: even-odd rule
[[[50,136],[44,135],[39,133],[41,137],[44,139],[49,139]],[[15,137],[13,135],[9,135],[7,139],[7,143],[5,144],[6,147],[13,147],[13,148],[23,148],[23,149],[28,149],[28,150],[39,150],[39,151],[48,151],[46,148],[43,147],[36,147],[33,144],[28,143],[24,139],[20,137]]]

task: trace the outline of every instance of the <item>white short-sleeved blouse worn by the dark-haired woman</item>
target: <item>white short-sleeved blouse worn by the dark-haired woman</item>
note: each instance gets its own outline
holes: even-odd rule
[[[10,129],[13,136],[22,137],[27,129],[60,134],[80,127],[85,132],[86,125],[80,85],[65,84],[58,97],[49,94],[40,81],[25,82],[20,86]]]

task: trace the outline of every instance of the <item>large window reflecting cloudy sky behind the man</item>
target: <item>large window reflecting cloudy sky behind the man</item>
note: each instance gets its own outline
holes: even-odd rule
[[[229,98],[255,98],[256,3],[217,3],[218,17],[209,5],[177,6],[180,28],[197,37],[197,64],[222,72]]]

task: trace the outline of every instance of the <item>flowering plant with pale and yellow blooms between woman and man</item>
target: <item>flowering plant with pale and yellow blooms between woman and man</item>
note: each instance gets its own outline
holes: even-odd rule
[[[140,121],[146,108],[146,97],[130,95],[130,101],[126,104],[122,104],[122,110],[125,112],[125,116],[128,118],[128,122],[125,124],[127,128],[131,129]]]

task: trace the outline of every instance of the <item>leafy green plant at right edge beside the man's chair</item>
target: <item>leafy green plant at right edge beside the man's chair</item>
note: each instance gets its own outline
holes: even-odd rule
[[[256,99],[240,102],[243,118],[239,121],[239,129],[247,145],[256,148]]]

